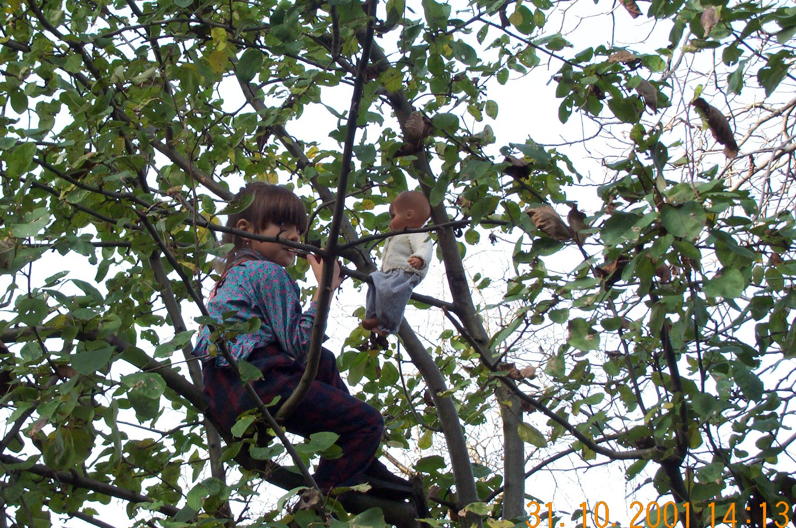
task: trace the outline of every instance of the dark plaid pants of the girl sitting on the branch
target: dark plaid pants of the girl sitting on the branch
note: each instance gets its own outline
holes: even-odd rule
[[[281,396],[279,403],[269,408],[276,413],[298,385],[304,366],[273,345],[256,348],[247,361],[263,372],[263,379],[252,382],[259,398],[267,404]],[[255,403],[232,367],[221,367],[211,359],[205,363],[204,372],[208,412],[229,430],[240,413],[254,409]],[[349,394],[334,354],[326,348],[321,352],[318,375],[310,392],[283,425],[289,433],[302,437],[321,431],[340,435],[336,443],[342,449],[342,456],[335,460],[322,458],[314,475],[322,490],[361,483],[366,473],[387,471],[375,460],[384,419],[379,411]]]

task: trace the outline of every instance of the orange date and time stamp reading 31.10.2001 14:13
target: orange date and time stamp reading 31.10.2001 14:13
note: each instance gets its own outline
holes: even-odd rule
[[[525,505],[529,507],[529,519],[525,524],[529,528],[565,528],[565,522],[556,525],[556,516],[552,503],[537,503],[533,500]],[[575,526],[570,528],[613,528],[618,526],[618,522],[611,521],[611,509],[604,501],[595,503],[594,508],[589,508],[587,503],[580,503],[582,518],[578,519]],[[755,509],[755,515],[760,517],[762,524],[767,526],[767,519],[771,519],[777,528],[785,528],[790,522],[790,507],[785,501],[779,501],[775,505],[775,511],[771,514],[767,511],[767,503],[760,503]],[[740,510],[740,508],[739,508]],[[751,512],[751,507],[746,507],[747,512]],[[716,522],[732,526],[732,528],[743,528],[744,525],[751,525],[750,514],[736,514],[736,503],[708,503],[707,507],[699,512],[692,512],[691,503],[674,503],[669,501],[661,505],[656,501],[640,503],[634,501],[630,503],[630,510],[623,511],[622,515],[631,517],[629,528],[675,528],[678,522],[682,523],[683,528],[691,528],[690,519],[692,513],[699,514],[705,524],[710,521],[711,528],[716,528]],[[755,519],[755,524],[758,524]],[[546,524],[546,526],[544,526]],[[738,526],[740,525],[740,526]]]

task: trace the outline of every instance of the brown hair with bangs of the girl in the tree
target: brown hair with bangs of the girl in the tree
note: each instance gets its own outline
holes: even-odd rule
[[[236,227],[240,220],[247,220],[256,227],[257,231],[263,231],[273,223],[278,226],[295,226],[299,234],[306,232],[306,209],[301,199],[289,188],[252,181],[238,191],[235,201],[243,200],[244,196],[248,195],[253,195],[254,201],[243,211],[229,215],[227,227]],[[248,239],[232,233],[224,233],[221,236],[222,244],[233,244],[227,254],[224,268],[232,264],[247,241]]]

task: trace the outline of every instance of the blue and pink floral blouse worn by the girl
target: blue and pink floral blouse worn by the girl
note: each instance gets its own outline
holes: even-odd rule
[[[209,299],[207,309],[216,320],[224,320],[224,314],[234,312],[229,321],[246,321],[259,317],[259,329],[251,334],[239,334],[228,341],[229,351],[236,361],[247,359],[257,347],[276,344],[300,362],[306,360],[310,348],[312,324],[317,303],[302,312],[301,289],[296,281],[279,264],[263,257],[255,250],[239,250],[239,262],[229,268],[217,285],[215,294]],[[194,355],[209,359],[209,328],[203,325],[197,338]],[[219,365],[226,359],[217,356]]]

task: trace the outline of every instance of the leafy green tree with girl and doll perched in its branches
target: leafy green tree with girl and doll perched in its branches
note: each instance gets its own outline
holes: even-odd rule
[[[302,484],[271,463],[290,443],[253,445],[253,416],[217,431],[189,359],[198,323],[251,327],[182,315],[212,285],[219,217],[245,205],[232,200],[237,175],[294,185],[317,237],[298,248],[344,256],[359,280],[374,269],[369,243],[386,236],[384,204],[416,185],[429,196],[451,300],[416,299],[451,329],[429,351],[403,325],[415,369],[405,390],[396,351],[371,352],[365,332],[340,358],[384,409],[390,441],[428,447],[443,433],[447,456],[412,460],[440,490],[429,523],[525,526],[526,479],[573,455],[632,460],[628,479],[650,475],[672,502],[670,526],[790,522],[796,8],[532,3],[6,2],[3,526],[50,526],[53,514],[105,526],[91,505],[109,497],[150,525],[283,526],[281,504],[259,517],[248,505],[263,478]],[[613,44],[615,29],[648,21],[649,41]],[[576,49],[584,31],[612,44]],[[547,78],[543,60],[579,141],[478,124],[497,116],[495,82]],[[347,111],[334,106],[341,88]],[[339,148],[291,135],[322,104]],[[581,175],[595,174],[589,155],[603,184],[577,189],[596,179]],[[487,232],[512,243],[505,283],[468,280],[462,258]],[[94,281],[68,278],[50,251],[84,255]],[[474,303],[473,290],[503,286],[497,306]],[[316,352],[326,313],[318,320]],[[564,324],[566,339],[532,352]],[[544,367],[541,388],[518,361]],[[473,465],[462,429],[496,410],[503,467]],[[164,413],[178,426],[154,427]],[[149,430],[120,427],[128,415]],[[295,464],[329,441],[298,446]],[[530,468],[525,443],[544,454]],[[407,503],[356,496],[344,524],[382,526],[377,506],[417,526]],[[245,505],[234,519],[230,501]],[[314,513],[297,516],[306,526]]]

